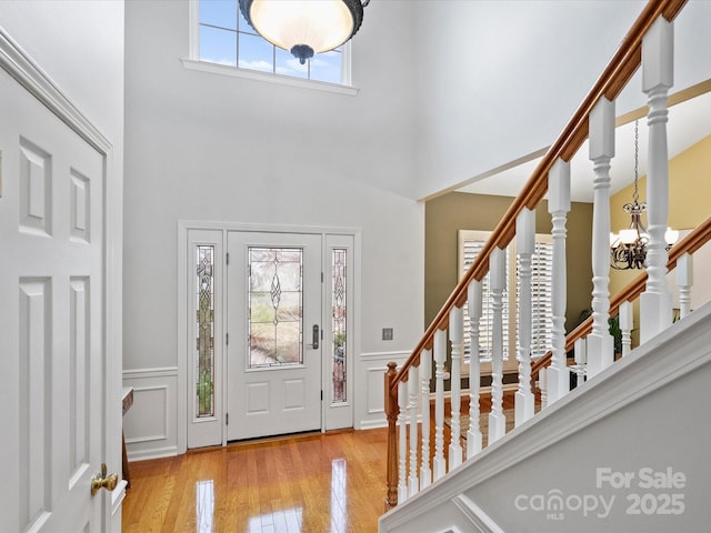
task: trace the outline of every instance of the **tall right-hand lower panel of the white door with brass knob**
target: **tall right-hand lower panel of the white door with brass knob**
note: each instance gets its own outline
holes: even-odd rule
[[[89,279],[72,278],[70,291],[70,349],[69,349],[69,472],[70,486],[81,477],[89,464],[90,409],[90,302]]]

